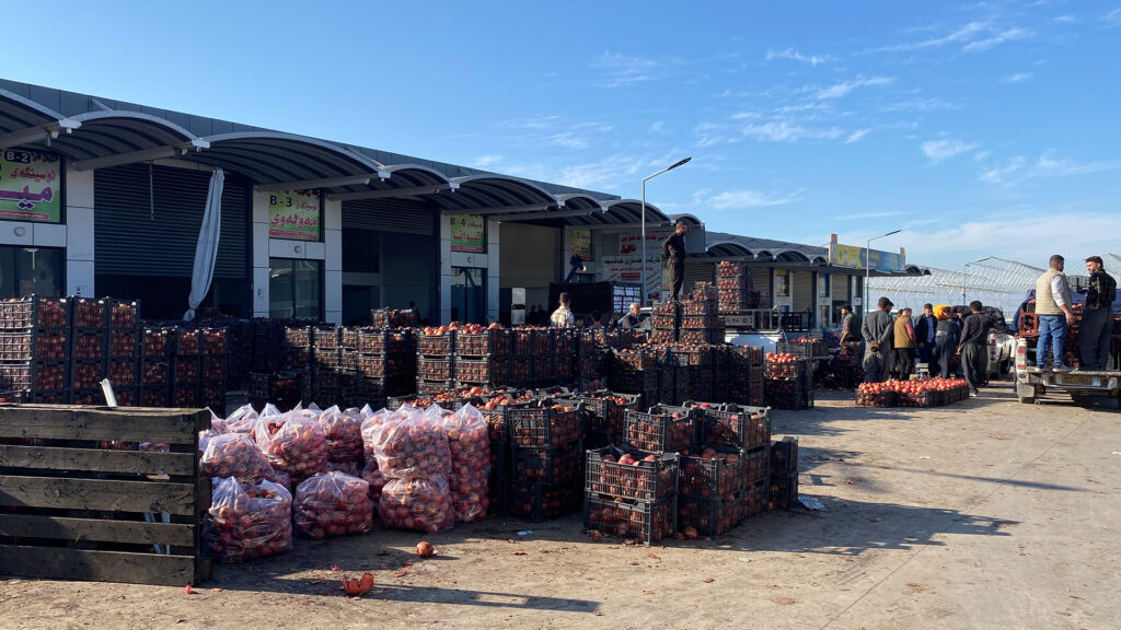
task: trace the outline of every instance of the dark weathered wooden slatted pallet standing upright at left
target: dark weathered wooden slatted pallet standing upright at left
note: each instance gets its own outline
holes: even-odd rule
[[[197,448],[210,420],[195,409],[0,405],[0,574],[209,580],[201,543],[211,480],[198,476]]]

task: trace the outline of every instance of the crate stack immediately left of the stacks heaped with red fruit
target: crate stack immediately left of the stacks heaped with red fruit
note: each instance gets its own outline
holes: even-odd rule
[[[416,391],[417,336],[411,328],[359,328],[354,395],[377,408],[389,396]]]

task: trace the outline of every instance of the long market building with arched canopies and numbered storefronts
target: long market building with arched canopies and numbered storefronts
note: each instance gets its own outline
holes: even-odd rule
[[[0,297],[112,295],[149,318],[187,309],[200,224],[224,173],[203,306],[241,317],[352,324],[410,302],[430,322],[506,321],[511,295],[606,280],[640,295],[676,216],[636,200],[0,80]],[[769,305],[855,300],[860,270],[828,250],[692,230],[687,284],[749,261]],[[576,268],[574,256],[582,261]],[[908,269],[907,272],[918,272]],[[648,295],[659,262],[648,261]]]

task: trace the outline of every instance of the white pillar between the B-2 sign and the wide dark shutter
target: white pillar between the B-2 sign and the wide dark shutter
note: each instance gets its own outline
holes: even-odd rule
[[[44,225],[43,228],[47,228]],[[66,225],[52,225],[56,233],[63,229],[62,243],[66,247],[66,295],[95,297],[94,286],[94,210],[93,172],[78,172],[66,166]],[[43,230],[45,233],[47,230]],[[38,235],[39,230],[36,230]],[[36,242],[35,244],[40,244]],[[45,245],[45,243],[43,243]]]

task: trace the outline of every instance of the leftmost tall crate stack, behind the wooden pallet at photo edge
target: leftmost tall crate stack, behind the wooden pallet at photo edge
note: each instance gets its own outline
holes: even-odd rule
[[[70,317],[61,298],[0,302],[0,391],[27,402],[70,402]]]

